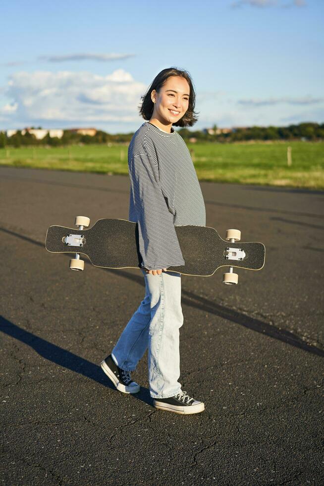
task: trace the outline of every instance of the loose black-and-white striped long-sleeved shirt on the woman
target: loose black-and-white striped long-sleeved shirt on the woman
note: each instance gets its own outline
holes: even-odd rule
[[[206,208],[190,152],[171,127],[144,122],[128,147],[129,221],[138,223],[142,267],[184,265],[175,226],[206,226]]]

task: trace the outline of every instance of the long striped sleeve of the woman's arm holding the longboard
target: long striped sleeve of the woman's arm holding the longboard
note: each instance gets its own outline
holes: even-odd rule
[[[159,164],[152,140],[136,140],[128,157],[131,190],[136,212],[142,268],[158,270],[184,265],[159,178]]]

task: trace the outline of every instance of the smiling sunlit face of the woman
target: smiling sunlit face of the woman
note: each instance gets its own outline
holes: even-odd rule
[[[152,118],[161,122],[175,123],[188,110],[190,86],[188,81],[181,76],[169,76],[160,93],[154,89],[151,93],[154,104]]]

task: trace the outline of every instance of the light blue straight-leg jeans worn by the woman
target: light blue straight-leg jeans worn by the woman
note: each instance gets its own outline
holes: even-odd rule
[[[181,274],[152,275],[141,271],[146,287],[144,300],[120,335],[111,357],[120,368],[134,371],[148,348],[150,395],[172,397],[181,391]]]

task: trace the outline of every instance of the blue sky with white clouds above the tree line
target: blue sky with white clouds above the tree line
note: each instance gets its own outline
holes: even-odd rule
[[[167,67],[198,122],[324,122],[324,0],[10,0],[1,5],[0,130],[128,133]]]

